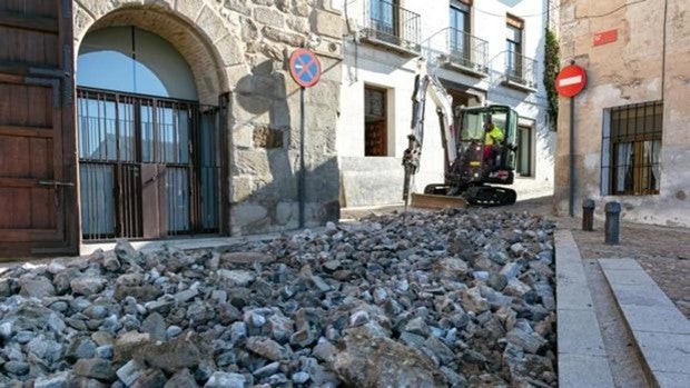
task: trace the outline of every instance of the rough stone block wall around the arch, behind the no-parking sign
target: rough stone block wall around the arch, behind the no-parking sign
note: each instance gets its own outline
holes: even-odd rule
[[[217,105],[229,93],[225,206],[231,235],[298,225],[300,92],[288,58],[310,41],[323,76],[305,96],[305,218],[307,226],[338,218],[335,128],[343,20],[329,1],[75,0],[73,7],[77,49],[89,29],[134,24],[183,54],[200,102]]]

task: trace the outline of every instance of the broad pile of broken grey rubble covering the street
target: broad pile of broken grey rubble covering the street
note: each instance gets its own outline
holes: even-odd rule
[[[554,387],[553,229],[445,210],[16,267],[0,386]]]

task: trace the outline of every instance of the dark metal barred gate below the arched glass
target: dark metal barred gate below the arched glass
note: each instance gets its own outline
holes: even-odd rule
[[[85,240],[219,231],[220,109],[77,91]]]

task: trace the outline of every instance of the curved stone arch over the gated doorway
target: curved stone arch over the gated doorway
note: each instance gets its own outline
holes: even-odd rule
[[[170,42],[191,69],[199,102],[217,105],[218,96],[230,90],[225,67],[237,62],[241,54],[223,18],[201,4],[172,0],[75,1],[75,58],[89,31],[135,26]]]

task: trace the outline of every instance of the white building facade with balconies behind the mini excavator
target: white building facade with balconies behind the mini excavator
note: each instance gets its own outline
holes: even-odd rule
[[[454,106],[506,105],[520,116],[513,188],[553,192],[555,135],[542,82],[549,1],[334,0],[346,21],[336,130],[341,206],[402,202],[402,156],[417,59],[425,57]],[[436,107],[427,98],[414,191],[443,182]]]

